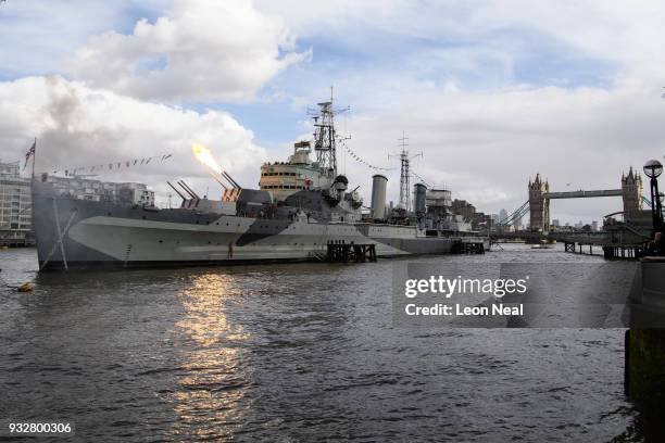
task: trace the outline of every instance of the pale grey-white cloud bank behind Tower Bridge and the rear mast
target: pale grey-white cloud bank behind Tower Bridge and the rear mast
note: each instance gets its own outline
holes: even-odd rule
[[[663,118],[665,102],[656,84],[623,85],[612,91],[429,91],[411,96],[399,107],[350,118],[348,144],[371,164],[397,167],[387,153],[399,150],[397,139],[404,130],[411,153],[424,153],[423,160],[412,162],[412,170],[451,189],[454,198],[497,213],[525,202],[528,179],[538,172],[554,191],[619,188],[622,173],[630,166],[641,170],[648,159],[662,157]],[[348,156],[346,172],[351,181],[361,181],[367,199],[374,172]],[[399,168],[387,175],[396,199]],[[553,218],[590,221],[620,211],[622,201],[556,201],[552,207]]]

